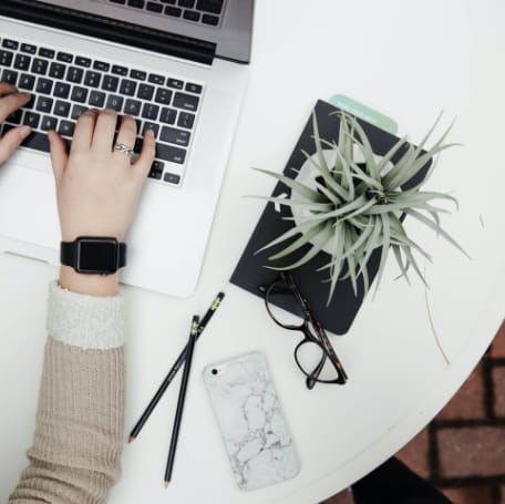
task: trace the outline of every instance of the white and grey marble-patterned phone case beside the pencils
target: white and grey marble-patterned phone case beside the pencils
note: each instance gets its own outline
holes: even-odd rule
[[[204,380],[238,486],[256,490],[295,477],[300,462],[265,356],[207,366]]]

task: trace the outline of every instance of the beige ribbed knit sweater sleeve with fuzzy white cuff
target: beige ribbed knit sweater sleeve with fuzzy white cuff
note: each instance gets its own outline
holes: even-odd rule
[[[9,503],[106,502],[123,445],[121,296],[50,286],[48,342],[30,464]]]

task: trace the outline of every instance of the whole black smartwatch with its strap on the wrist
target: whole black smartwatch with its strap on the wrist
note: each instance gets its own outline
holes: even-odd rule
[[[115,238],[80,236],[61,243],[60,260],[84,275],[113,275],[126,266],[126,244]]]

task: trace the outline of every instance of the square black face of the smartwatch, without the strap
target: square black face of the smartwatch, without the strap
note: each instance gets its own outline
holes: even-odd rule
[[[111,274],[117,271],[117,241],[81,239],[78,268],[80,272]]]

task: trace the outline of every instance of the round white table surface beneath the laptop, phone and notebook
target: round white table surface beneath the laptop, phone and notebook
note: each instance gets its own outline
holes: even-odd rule
[[[196,348],[173,483],[167,491],[162,484],[178,379],[125,446],[111,503],[320,502],[395,453],[456,392],[505,311],[504,19],[501,0],[258,0],[249,90],[197,292],[173,299],[123,289],[128,430],[185,343],[192,315],[203,315],[219,289],[227,294]],[[427,187],[458,198],[460,210],[443,225],[472,259],[406,220],[434,258],[425,265],[430,289],[414,278],[411,287],[394,281],[391,257],[349,333],[331,336],[349,382],[308,391],[292,359],[296,338],[269,320],[259,298],[227,280],[262,209],[243,196],[274,186],[250,168],[281,171],[316,100],[336,93],[394,117],[414,142],[441,110],[440,132],[456,117],[450,140],[464,146],[442,155]],[[2,502],[32,440],[47,286],[55,276],[47,265],[0,255]],[[268,358],[302,470],[241,492],[200,374],[209,362],[251,350]]]

